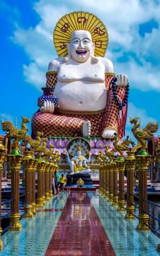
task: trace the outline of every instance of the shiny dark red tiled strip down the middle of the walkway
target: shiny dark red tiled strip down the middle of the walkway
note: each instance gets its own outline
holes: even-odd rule
[[[115,256],[87,192],[71,192],[45,256]]]

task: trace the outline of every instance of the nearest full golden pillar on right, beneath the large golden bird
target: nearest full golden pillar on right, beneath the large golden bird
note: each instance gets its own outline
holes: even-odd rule
[[[143,151],[142,151],[143,152]],[[147,170],[148,165],[151,160],[151,156],[142,154],[135,157],[137,160],[137,169],[139,176],[139,224],[137,225],[137,230],[149,231],[148,225],[149,216],[146,214],[148,211],[147,202]]]

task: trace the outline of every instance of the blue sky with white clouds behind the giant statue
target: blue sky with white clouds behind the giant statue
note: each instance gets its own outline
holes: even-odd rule
[[[0,119],[15,124],[17,118],[20,127],[21,116],[38,110],[49,61],[57,57],[52,31],[59,18],[79,10],[103,21],[105,57],[116,74],[129,76],[126,135],[132,137],[129,117],[140,117],[142,127],[150,121],[160,126],[160,0],[1,0]],[[30,134],[31,123],[28,128]]]

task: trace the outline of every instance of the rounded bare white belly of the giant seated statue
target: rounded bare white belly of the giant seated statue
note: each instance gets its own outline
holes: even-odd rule
[[[97,111],[106,105],[107,91],[104,83],[73,81],[57,83],[55,96],[59,99],[60,110]]]

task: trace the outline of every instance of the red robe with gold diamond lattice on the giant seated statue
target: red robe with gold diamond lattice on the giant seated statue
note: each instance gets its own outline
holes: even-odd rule
[[[124,129],[127,119],[127,105],[121,111],[119,117],[119,106],[113,99],[111,81],[113,74],[105,74],[105,87],[108,91],[107,102],[104,110],[96,112],[71,112],[55,109],[54,113],[36,112],[32,118],[32,137],[36,132],[44,132],[44,136],[82,136],[84,121],[91,121],[91,137],[100,137],[104,129],[115,129],[119,138],[124,136]],[[57,83],[57,72],[47,72],[47,87],[55,88]],[[117,87],[117,96],[123,102],[125,87]],[[40,100],[38,105],[41,107]]]

